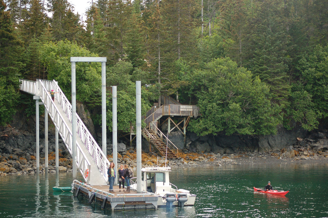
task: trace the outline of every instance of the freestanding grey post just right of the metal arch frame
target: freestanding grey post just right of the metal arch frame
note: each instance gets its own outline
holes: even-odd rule
[[[117,186],[117,89],[116,86],[112,86],[113,92],[113,163],[115,164],[115,181],[114,186]]]

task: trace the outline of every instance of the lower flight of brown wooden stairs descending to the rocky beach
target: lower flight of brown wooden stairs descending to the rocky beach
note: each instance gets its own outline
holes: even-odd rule
[[[150,129],[143,129],[141,133],[149,142],[150,151],[153,147],[161,156],[168,159],[178,157],[178,148],[153,123]]]

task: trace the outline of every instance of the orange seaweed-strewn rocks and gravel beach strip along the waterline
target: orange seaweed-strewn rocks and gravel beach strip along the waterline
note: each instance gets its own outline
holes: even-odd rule
[[[319,163],[328,164],[328,151],[317,150],[317,147],[289,146],[280,152],[252,153],[237,152],[236,154],[214,154],[214,153],[194,153],[184,151],[178,158],[167,160],[168,167],[198,167],[223,165],[244,165],[244,164],[277,164],[277,163]],[[0,176],[10,174],[36,173],[36,161],[34,155],[14,149],[14,154],[0,154]],[[112,155],[108,155],[112,161]],[[136,154],[134,150],[128,150],[118,154],[118,165],[128,164],[136,167]],[[45,173],[44,158],[40,158],[40,173]],[[59,159],[59,172],[72,172],[72,159]],[[142,167],[155,167],[157,165],[157,155],[155,153],[142,154]],[[158,166],[165,165],[165,157],[158,157]],[[54,155],[49,155],[49,173],[55,173]]]

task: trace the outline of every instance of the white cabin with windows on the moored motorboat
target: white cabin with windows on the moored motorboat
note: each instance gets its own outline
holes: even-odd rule
[[[156,194],[171,192],[169,179],[171,167],[146,167],[141,169],[142,189]]]

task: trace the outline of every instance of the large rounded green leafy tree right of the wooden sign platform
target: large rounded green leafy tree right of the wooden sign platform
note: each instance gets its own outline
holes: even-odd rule
[[[227,135],[268,135],[277,132],[281,109],[268,99],[269,88],[252,79],[250,71],[229,58],[216,59],[195,74],[196,94],[202,116],[189,130],[198,135],[225,131]]]

